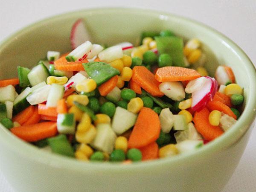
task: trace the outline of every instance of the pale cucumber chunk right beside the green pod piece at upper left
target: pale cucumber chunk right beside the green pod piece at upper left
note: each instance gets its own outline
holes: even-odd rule
[[[38,83],[46,81],[49,76],[49,71],[44,64],[40,63],[35,66],[28,74],[29,82],[32,86],[35,86]]]

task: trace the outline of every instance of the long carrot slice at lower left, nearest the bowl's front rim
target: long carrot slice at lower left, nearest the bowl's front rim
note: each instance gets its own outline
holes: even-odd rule
[[[11,128],[10,131],[20,139],[28,142],[35,142],[53,137],[57,134],[56,122],[41,122],[33,125],[22,125],[20,127]]]

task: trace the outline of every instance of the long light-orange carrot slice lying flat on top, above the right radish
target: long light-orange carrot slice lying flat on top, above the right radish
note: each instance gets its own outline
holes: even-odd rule
[[[184,67],[161,67],[157,70],[155,75],[157,81],[190,81],[200,77],[201,75],[196,71]]]

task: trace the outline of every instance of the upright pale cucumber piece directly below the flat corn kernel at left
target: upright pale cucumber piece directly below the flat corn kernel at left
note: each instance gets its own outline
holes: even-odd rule
[[[47,97],[47,107],[56,107],[58,100],[64,95],[64,86],[60,84],[52,84]]]

